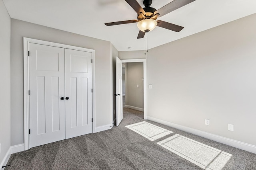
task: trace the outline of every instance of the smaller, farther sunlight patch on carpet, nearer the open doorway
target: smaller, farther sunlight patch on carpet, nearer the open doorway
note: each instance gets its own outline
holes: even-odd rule
[[[143,137],[146,137],[150,141],[155,141],[157,139],[160,139],[166,135],[173,133],[172,131],[168,131],[167,129],[158,127],[158,126],[148,123],[146,121],[134,123],[132,125],[127,125],[125,127],[142,135]]]

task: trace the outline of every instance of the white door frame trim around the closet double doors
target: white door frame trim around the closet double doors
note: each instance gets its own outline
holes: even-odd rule
[[[93,49],[86,49],[82,47],[76,47],[72,45],[65,45],[60,43],[53,43],[49,41],[42,41],[38,39],[26,38],[23,37],[23,71],[24,71],[24,150],[30,149],[30,142],[29,142],[29,97],[28,97],[28,90],[29,90],[29,59],[28,59],[28,48],[29,43],[36,43],[41,45],[48,45],[53,47],[60,47],[65,49],[73,49],[78,51],[86,51],[92,53],[92,133],[95,133],[96,128],[96,119],[95,119],[95,50]]]

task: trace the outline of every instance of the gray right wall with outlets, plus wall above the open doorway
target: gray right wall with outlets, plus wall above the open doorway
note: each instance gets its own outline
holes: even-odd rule
[[[253,14],[150,49],[148,116],[256,145],[255,20]]]

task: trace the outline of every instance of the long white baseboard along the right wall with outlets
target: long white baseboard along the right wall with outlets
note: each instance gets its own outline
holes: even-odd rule
[[[154,122],[157,122],[157,123],[161,123],[163,125],[174,127],[176,129],[179,129],[179,130],[182,130],[182,131],[185,131],[185,132],[188,132],[188,133],[192,133],[194,135],[198,135],[198,136],[201,136],[201,137],[204,137],[204,138],[207,138],[207,139],[211,139],[211,140],[219,142],[219,143],[223,143],[223,144],[226,144],[226,145],[229,145],[229,146],[232,146],[232,147],[236,147],[238,149],[246,150],[248,152],[252,152],[252,153],[256,154],[256,146],[255,145],[251,145],[251,144],[248,144],[248,143],[236,141],[236,140],[229,139],[229,138],[226,138],[226,137],[222,137],[222,136],[219,136],[219,135],[214,135],[212,133],[200,131],[200,130],[197,130],[197,129],[193,129],[193,128],[190,128],[190,127],[178,125],[178,124],[175,124],[175,123],[170,123],[168,121],[160,120],[160,119],[150,117],[150,116],[148,116],[147,118],[150,121],[154,121]]]

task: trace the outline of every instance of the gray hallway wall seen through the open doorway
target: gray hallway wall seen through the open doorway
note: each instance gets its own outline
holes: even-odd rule
[[[126,105],[143,109],[143,63],[126,63],[126,68]]]

